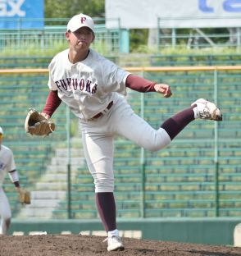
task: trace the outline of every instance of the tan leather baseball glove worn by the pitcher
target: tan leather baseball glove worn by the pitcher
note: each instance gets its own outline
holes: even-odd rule
[[[30,135],[47,136],[55,130],[55,124],[31,108],[25,118],[25,131]]]

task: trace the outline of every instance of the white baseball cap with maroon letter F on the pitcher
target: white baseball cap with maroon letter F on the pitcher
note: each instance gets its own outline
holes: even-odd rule
[[[67,31],[75,32],[82,27],[88,27],[93,31],[93,20],[90,16],[80,13],[70,19],[67,25]]]

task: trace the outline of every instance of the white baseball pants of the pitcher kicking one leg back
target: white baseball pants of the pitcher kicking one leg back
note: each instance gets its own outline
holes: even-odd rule
[[[155,130],[136,115],[125,98],[117,98],[102,117],[80,120],[84,155],[93,176],[95,192],[113,192],[114,136],[122,135],[144,149],[157,151],[171,143],[166,130]]]

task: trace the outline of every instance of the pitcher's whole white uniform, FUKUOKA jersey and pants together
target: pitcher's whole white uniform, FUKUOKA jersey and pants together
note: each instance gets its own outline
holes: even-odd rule
[[[90,50],[75,64],[62,51],[50,62],[48,87],[80,118],[86,162],[95,191],[113,192],[113,139],[122,135],[144,149],[157,150],[171,142],[166,130],[154,130],[127,103],[125,80],[129,72]],[[122,96],[120,96],[122,95]],[[113,101],[111,107],[107,107]],[[95,117],[102,112],[101,117]]]

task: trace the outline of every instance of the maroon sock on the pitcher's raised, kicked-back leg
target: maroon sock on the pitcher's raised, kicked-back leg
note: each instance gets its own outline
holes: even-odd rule
[[[189,122],[194,120],[193,107],[196,106],[192,106],[178,112],[173,117],[164,121],[164,123],[161,125],[161,128],[166,130],[171,139],[174,139],[175,136],[178,135],[180,131],[189,124]]]

